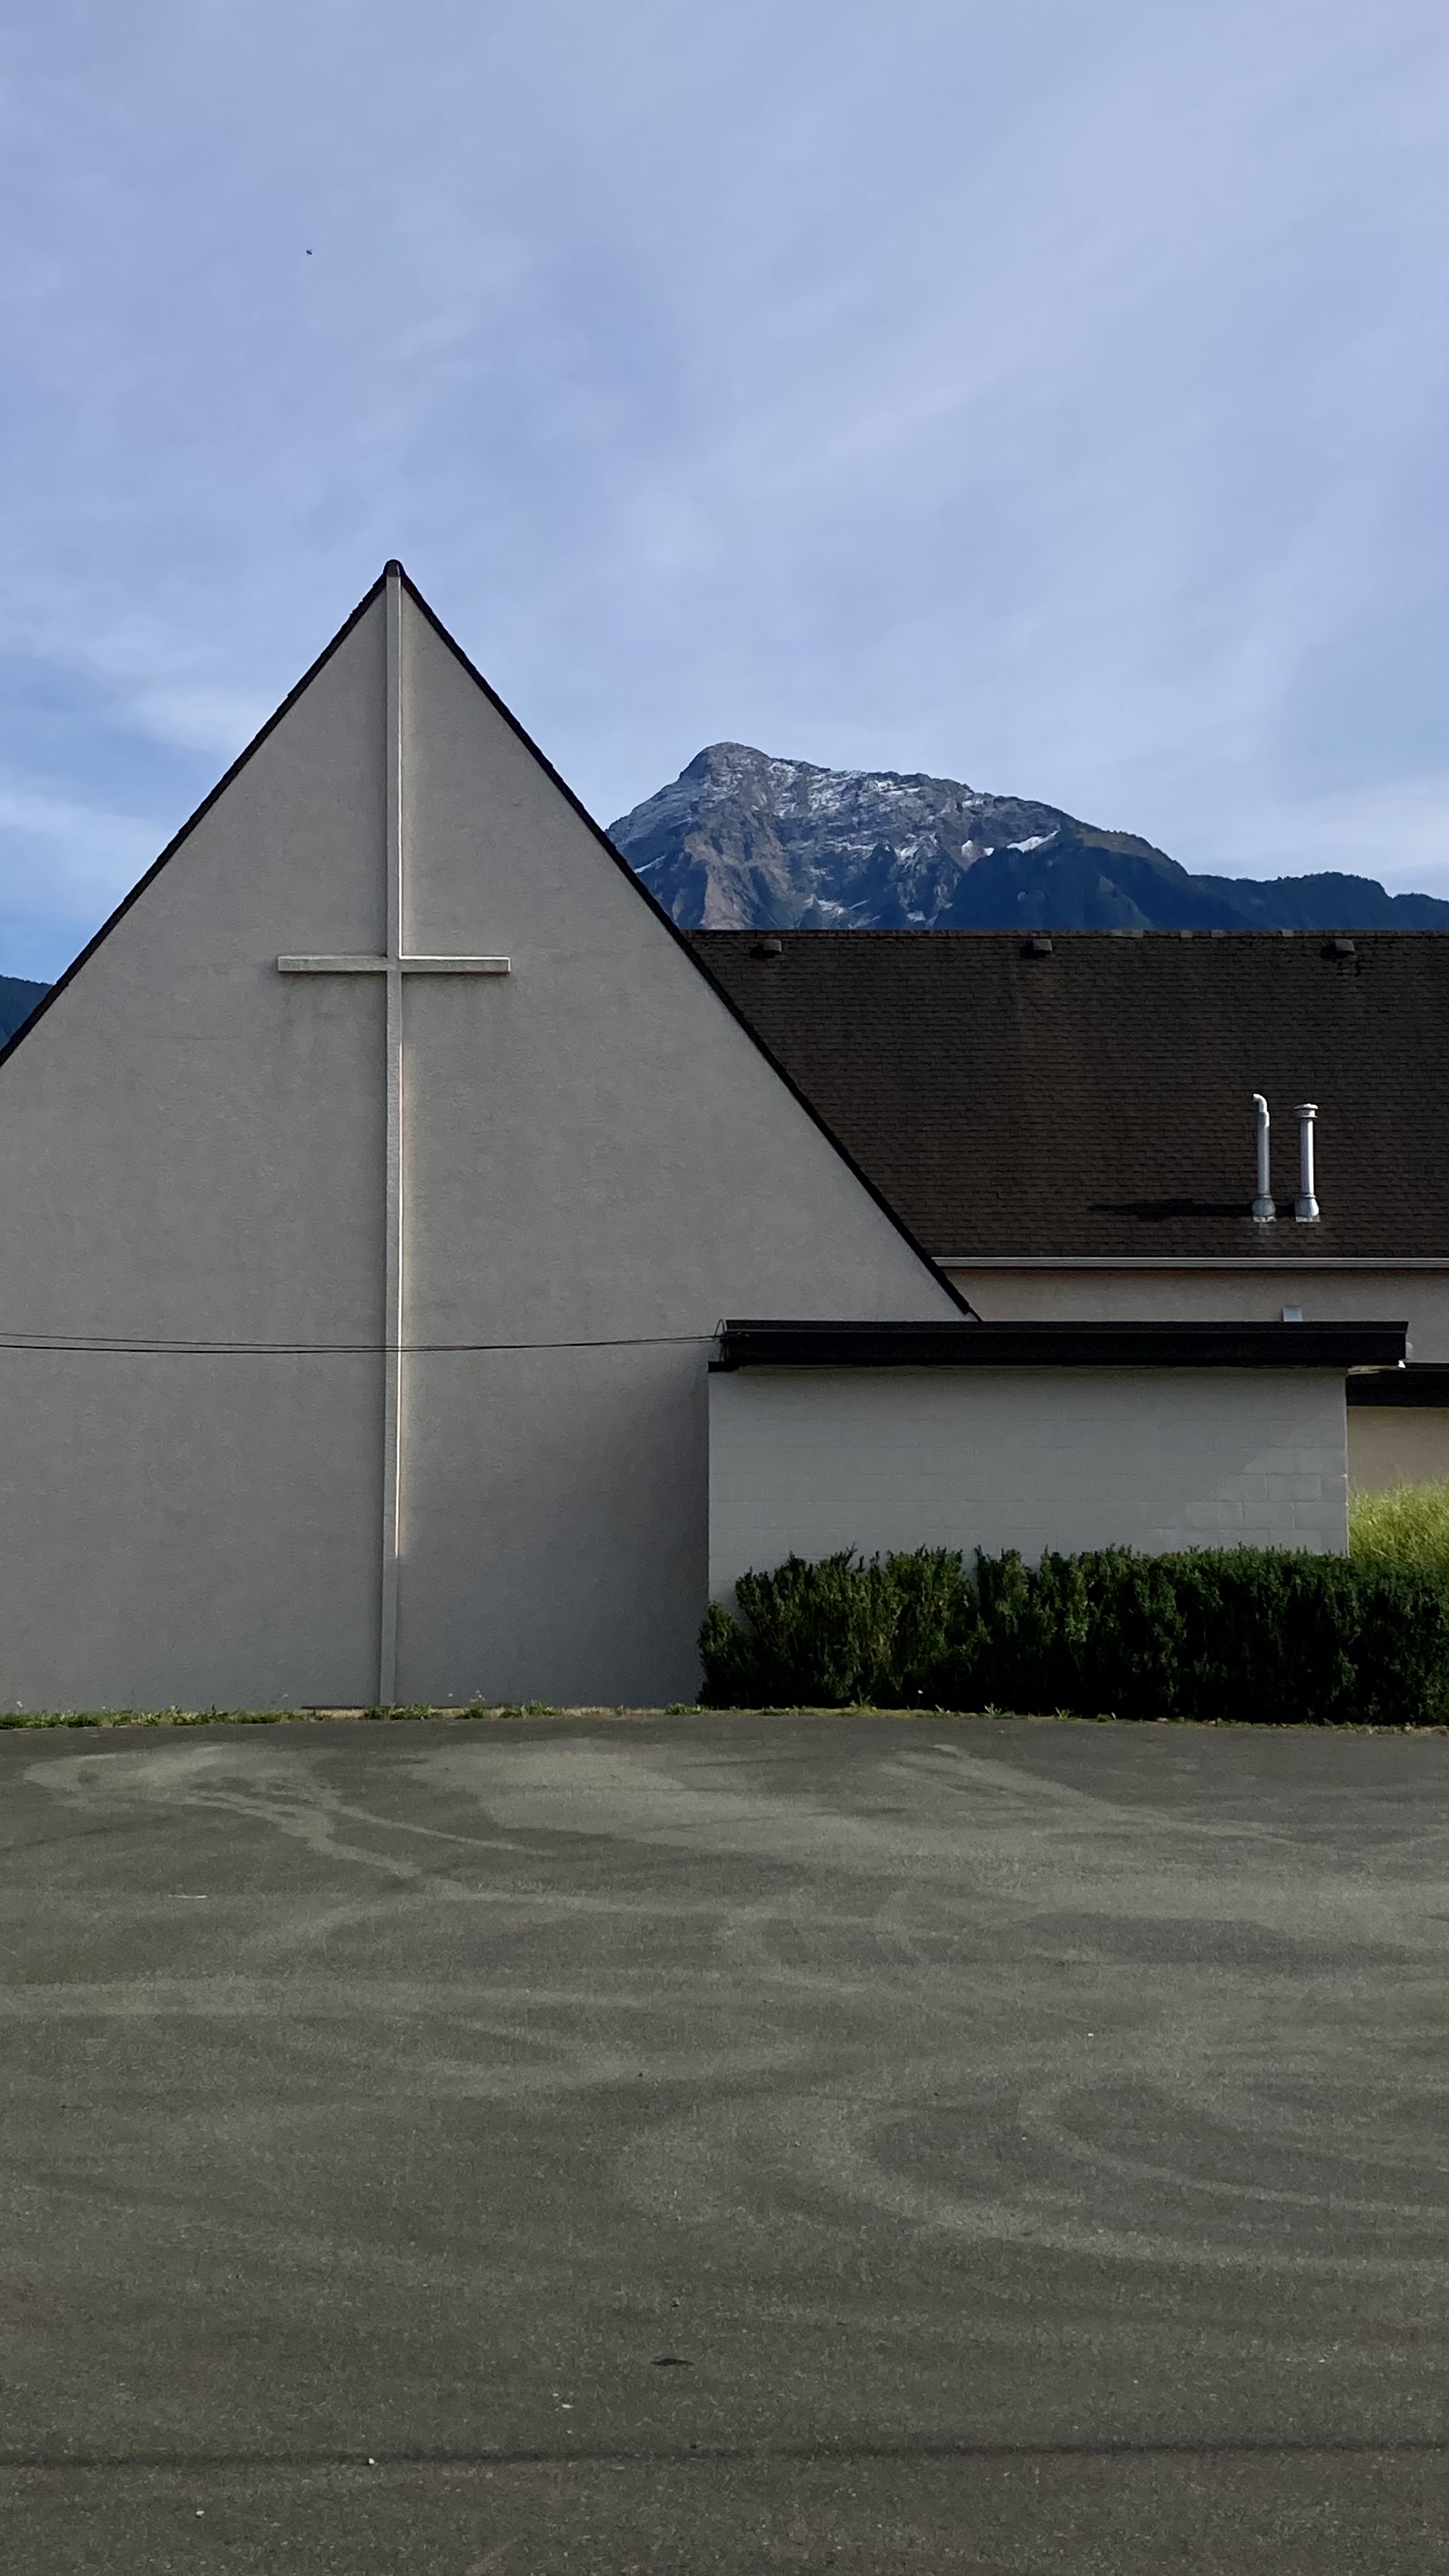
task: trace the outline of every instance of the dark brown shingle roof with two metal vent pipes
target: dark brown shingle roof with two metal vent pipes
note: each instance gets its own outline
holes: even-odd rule
[[[771,935],[773,938],[773,935]],[[1449,1262],[1449,935],[694,930],[933,1255]],[[1253,1226],[1253,1092],[1279,1221]],[[1299,1226],[1299,1100],[1318,1200]]]

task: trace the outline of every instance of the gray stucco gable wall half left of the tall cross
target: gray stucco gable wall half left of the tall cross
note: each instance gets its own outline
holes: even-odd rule
[[[0,1327],[376,1342],[382,608],[0,1069]],[[0,1350],[0,1705],[369,1700],[382,1363]]]

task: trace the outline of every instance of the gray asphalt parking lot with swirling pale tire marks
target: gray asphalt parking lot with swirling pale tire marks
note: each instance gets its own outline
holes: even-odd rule
[[[1441,2576],[1449,1739],[0,1736],[15,2576]]]

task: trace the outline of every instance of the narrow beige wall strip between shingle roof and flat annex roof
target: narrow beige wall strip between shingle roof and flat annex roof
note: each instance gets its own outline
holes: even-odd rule
[[[1307,1324],[1408,1321],[1415,1360],[1449,1360],[1449,1265],[1444,1270],[972,1270],[946,1278],[993,1324],[1096,1319],[1276,1324],[1302,1306]]]

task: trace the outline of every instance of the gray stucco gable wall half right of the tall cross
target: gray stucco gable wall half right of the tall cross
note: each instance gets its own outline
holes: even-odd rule
[[[724,1314],[951,1316],[632,881],[407,611],[405,1698],[699,1685]],[[668,1337],[694,1337],[670,1342]]]

